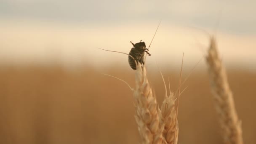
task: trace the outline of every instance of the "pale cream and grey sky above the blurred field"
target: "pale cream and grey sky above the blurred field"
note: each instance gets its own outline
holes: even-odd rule
[[[176,64],[183,52],[195,64],[207,50],[206,30],[227,64],[251,67],[255,8],[255,0],[1,0],[0,61],[123,64],[126,56],[96,48],[128,53],[131,40],[149,45],[161,19],[149,64]]]

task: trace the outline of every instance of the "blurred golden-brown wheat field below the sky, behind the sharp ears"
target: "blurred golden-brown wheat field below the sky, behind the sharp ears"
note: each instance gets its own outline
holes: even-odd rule
[[[80,67],[66,69],[2,66],[0,68],[1,144],[137,144],[132,92],[114,75],[134,87],[132,70]],[[184,71],[184,77],[189,72]],[[227,69],[243,139],[255,144],[256,73]],[[179,72],[164,70],[175,91]],[[164,85],[159,72],[148,71],[159,104]],[[220,128],[210,93],[207,69],[196,69],[182,86],[179,102],[179,143],[220,144]]]

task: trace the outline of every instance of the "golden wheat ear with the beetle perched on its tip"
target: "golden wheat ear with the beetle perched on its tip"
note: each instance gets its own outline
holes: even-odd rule
[[[165,144],[163,138],[163,126],[159,123],[159,111],[156,97],[147,80],[145,67],[138,64],[135,75],[136,87],[135,98],[135,119],[139,127],[143,144]]]

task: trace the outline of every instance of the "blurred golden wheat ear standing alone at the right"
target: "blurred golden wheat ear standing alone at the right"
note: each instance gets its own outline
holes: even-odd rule
[[[237,117],[226,70],[219,58],[214,37],[211,37],[206,61],[224,144],[243,144],[241,122]]]

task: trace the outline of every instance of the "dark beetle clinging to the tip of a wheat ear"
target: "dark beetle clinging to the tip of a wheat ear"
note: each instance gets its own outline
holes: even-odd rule
[[[145,64],[145,58],[144,58],[145,52],[149,56],[151,56],[151,54],[148,52],[149,49],[146,48],[146,44],[145,44],[145,42],[142,42],[142,40],[139,43],[133,44],[132,41],[130,41],[130,43],[133,45],[133,48],[131,48],[131,51],[129,53],[129,55],[131,55],[132,57],[128,56],[128,62],[129,62],[130,67],[133,70],[136,70],[136,62],[137,63],[139,62],[140,64],[143,64],[143,66],[144,66],[144,64]]]

